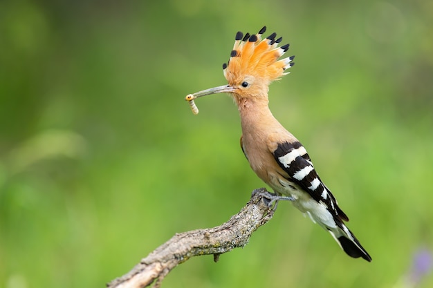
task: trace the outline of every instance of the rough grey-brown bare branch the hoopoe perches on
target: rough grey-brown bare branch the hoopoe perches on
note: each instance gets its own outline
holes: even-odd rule
[[[154,282],[154,288],[158,288],[174,267],[193,256],[213,254],[214,261],[218,261],[222,253],[248,244],[252,233],[273,217],[275,207],[271,207],[275,200],[277,196],[264,188],[252,191],[250,201],[228,222],[214,228],[176,233],[107,287],[142,288]]]

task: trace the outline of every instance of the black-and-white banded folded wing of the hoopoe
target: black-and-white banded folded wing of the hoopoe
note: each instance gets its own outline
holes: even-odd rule
[[[297,184],[317,202],[326,204],[340,219],[349,221],[347,215],[338,207],[331,191],[320,180],[310,156],[300,142],[268,142],[268,148],[278,165],[287,173],[288,181]]]

